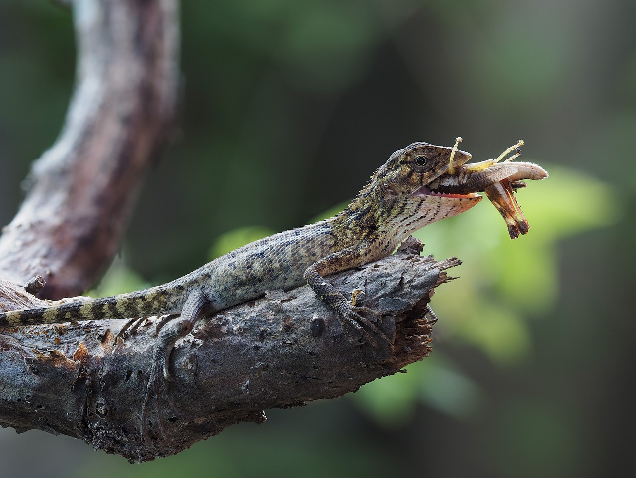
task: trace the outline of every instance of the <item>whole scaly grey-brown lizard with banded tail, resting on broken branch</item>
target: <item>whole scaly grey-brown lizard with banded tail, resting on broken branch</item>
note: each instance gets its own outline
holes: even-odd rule
[[[444,193],[429,188],[448,175],[451,165],[460,167],[470,158],[470,153],[457,148],[457,142],[453,147],[415,142],[392,153],[349,206],[334,217],[250,243],[149,289],[4,311],[0,329],[179,315],[157,332],[142,410],[142,435],[148,442],[148,402],[159,383],[172,380],[169,358],[176,341],[190,334],[198,318],[264,296],[267,290],[291,289],[306,282],[335,311],[350,340],[391,347],[392,339],[376,325],[378,313],[357,306],[353,295],[349,301],[328,276],[387,257],[411,233],[476,205],[482,196],[474,192]],[[481,181],[480,188],[487,183]]]

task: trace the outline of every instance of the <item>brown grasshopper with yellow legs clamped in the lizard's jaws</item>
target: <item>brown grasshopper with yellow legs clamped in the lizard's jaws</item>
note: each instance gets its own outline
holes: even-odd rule
[[[462,197],[484,192],[508,224],[508,233],[515,239],[530,228],[528,221],[516,201],[516,189],[525,188],[524,179],[544,179],[548,173],[533,163],[513,162],[521,154],[523,140],[508,147],[495,160],[462,164],[453,167],[453,156],[462,139],[455,141],[450,163],[445,174],[427,185],[427,194],[445,197]],[[514,153],[513,153],[514,151]],[[506,158],[510,153],[511,156]],[[504,158],[506,158],[504,160]]]

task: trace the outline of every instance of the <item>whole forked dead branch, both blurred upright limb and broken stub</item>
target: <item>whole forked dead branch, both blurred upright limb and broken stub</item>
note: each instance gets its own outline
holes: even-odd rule
[[[0,280],[0,310],[51,303],[32,295],[38,291],[73,296],[100,277],[172,118],[174,0],[73,6],[78,83],[59,140],[34,163],[27,198],[0,238],[0,277],[11,281]],[[436,263],[419,257],[416,243],[409,247],[334,282],[345,294],[366,290],[359,303],[384,312],[381,328],[395,337],[394,350],[350,343],[308,287],[272,292],[201,320],[177,343],[175,381],[157,393],[145,444],[141,407],[160,318],[4,329],[0,425],[78,437],[143,461],[239,421],[262,423],[264,409],[357,390],[431,350],[424,307],[459,261]]]

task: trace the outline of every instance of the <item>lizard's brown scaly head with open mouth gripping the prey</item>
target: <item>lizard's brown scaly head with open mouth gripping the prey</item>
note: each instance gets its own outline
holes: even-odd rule
[[[350,208],[360,214],[366,209],[380,228],[392,231],[401,241],[427,224],[460,214],[481,200],[476,193],[447,194],[429,187],[448,172],[451,161],[453,167],[459,167],[470,158],[471,154],[456,146],[413,143],[391,154]]]

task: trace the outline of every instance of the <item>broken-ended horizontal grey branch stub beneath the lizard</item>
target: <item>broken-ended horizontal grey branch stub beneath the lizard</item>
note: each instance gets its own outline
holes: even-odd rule
[[[382,311],[393,351],[350,343],[307,286],[222,311],[177,343],[175,380],[156,397],[170,440],[158,432],[153,402],[147,445],[140,416],[158,318],[139,327],[108,320],[9,329],[0,335],[0,424],[70,435],[143,461],[233,423],[263,423],[265,409],[353,392],[431,351],[425,305],[459,261],[437,263],[412,247],[333,280],[345,294],[366,290],[359,303]]]

